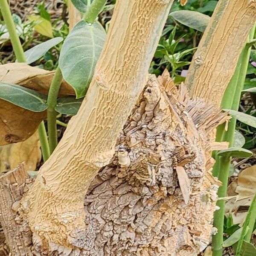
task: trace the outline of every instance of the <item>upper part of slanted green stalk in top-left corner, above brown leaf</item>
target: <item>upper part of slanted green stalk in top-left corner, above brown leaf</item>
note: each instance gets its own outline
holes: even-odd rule
[[[12,42],[12,48],[15,53],[18,62],[26,62],[26,57],[20,43],[20,38],[17,35],[15,23],[12,18],[12,13],[9,8],[7,0],[0,0],[0,9],[3,15],[3,20],[6,24],[6,28],[9,32],[10,40]]]

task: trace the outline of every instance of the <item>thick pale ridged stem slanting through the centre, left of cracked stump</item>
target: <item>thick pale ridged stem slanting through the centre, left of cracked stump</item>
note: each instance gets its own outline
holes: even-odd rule
[[[41,239],[78,246],[84,194],[114,154],[147,79],[172,0],[119,0],[84,102],[42,166],[25,201],[29,224]]]

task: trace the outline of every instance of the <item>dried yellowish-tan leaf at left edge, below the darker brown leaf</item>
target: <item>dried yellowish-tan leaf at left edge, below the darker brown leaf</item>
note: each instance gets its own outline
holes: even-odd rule
[[[23,162],[26,171],[33,171],[40,161],[41,151],[37,132],[23,142],[0,146],[0,173],[14,169]]]

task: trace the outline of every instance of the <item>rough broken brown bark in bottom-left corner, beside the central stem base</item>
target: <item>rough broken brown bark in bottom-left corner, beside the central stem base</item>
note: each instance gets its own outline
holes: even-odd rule
[[[31,183],[23,164],[16,169],[0,176],[0,222],[9,245],[10,253],[14,256],[32,255],[32,236],[27,221],[17,214],[19,201],[23,193],[29,190]],[[0,253],[7,250],[0,247]],[[4,254],[3,254],[4,255]]]

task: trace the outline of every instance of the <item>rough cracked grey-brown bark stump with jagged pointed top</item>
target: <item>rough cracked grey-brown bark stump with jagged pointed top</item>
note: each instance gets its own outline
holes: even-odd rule
[[[212,145],[218,144],[211,134],[226,119],[218,108],[189,99],[184,85],[177,90],[169,73],[149,76],[119,133],[111,163],[90,183],[85,229],[69,234],[69,247],[33,232],[27,247],[38,256],[197,255],[214,232],[219,183],[210,172]],[[177,166],[189,177],[187,204]],[[69,214],[67,222],[73,212]]]

